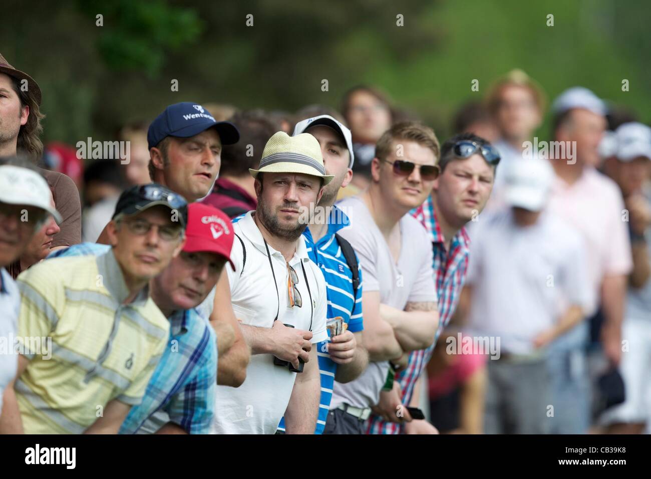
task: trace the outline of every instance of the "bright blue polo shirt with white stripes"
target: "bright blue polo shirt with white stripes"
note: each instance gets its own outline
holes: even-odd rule
[[[305,229],[303,237],[305,238],[307,254],[320,267],[324,278],[326,278],[327,321],[341,316],[348,324],[350,332],[359,332],[363,330],[362,270],[357,265],[359,288],[357,288],[357,297],[353,298],[353,274],[350,267],[348,267],[348,263],[346,263],[344,254],[341,252],[339,242],[335,238],[335,233],[349,224],[348,216],[339,208],[332,207],[326,235],[318,240],[316,244],[314,244],[309,229]],[[359,262],[359,258],[357,261]],[[322,341],[317,345],[316,354],[318,355],[319,370],[321,372],[321,400],[314,434],[321,434],[326,426],[327,413],[332,399],[332,388],[335,382],[335,372],[337,372],[337,363],[328,356],[326,344],[327,341]],[[281,420],[278,429],[284,431],[284,419]]]

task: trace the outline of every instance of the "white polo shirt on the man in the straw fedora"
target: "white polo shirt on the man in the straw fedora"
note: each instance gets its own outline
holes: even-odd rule
[[[303,306],[289,307],[287,294],[288,270],[283,255],[269,246],[271,264],[278,286],[273,285],[271,265],[262,233],[249,211],[233,229],[246,249],[243,261],[242,244],[233,242],[230,254],[235,270],[228,265],[230,295],[233,311],[245,325],[271,328],[278,313],[278,321],[295,328],[311,330],[312,343],[327,339],[326,331],[326,280],[318,266],[310,261],[305,240],[298,239],[296,253],[289,261],[298,276],[298,288]],[[305,276],[303,267],[305,267]],[[305,285],[309,282],[312,295]],[[272,355],[252,355],[246,371],[246,380],[239,388],[217,386],[217,401],[212,433],[217,434],[273,434],[283,417],[294,388],[296,373],[286,367],[275,366]]]

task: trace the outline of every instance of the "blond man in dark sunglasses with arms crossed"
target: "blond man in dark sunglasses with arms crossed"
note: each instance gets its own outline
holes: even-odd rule
[[[385,420],[411,421],[393,373],[406,366],[410,351],[434,342],[439,315],[430,240],[409,210],[434,188],[439,156],[431,128],[397,123],[378,141],[367,192],[338,204],[351,222],[340,234],[355,248],[363,271],[362,338],[369,364],[354,381],[335,382],[328,422],[337,423],[337,433],[365,433],[372,408]]]

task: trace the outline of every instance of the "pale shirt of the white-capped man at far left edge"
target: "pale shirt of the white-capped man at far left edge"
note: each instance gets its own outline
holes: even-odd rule
[[[2,413],[3,393],[18,373],[18,356],[15,353],[14,343],[18,330],[20,293],[16,282],[6,269],[0,268],[0,274],[2,275],[0,289],[0,413]]]

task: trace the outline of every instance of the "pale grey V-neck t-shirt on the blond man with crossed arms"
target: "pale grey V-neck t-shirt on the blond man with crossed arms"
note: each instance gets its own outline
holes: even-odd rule
[[[408,302],[436,301],[432,244],[415,218],[406,214],[400,219],[400,257],[396,265],[389,245],[360,197],[343,199],[337,207],[350,218],[350,227],[339,234],[359,256],[364,292],[380,291],[380,302],[399,310],[404,310]],[[335,381],[330,409],[342,403],[361,408],[377,404],[388,371],[388,361],[369,362],[355,381]]]

